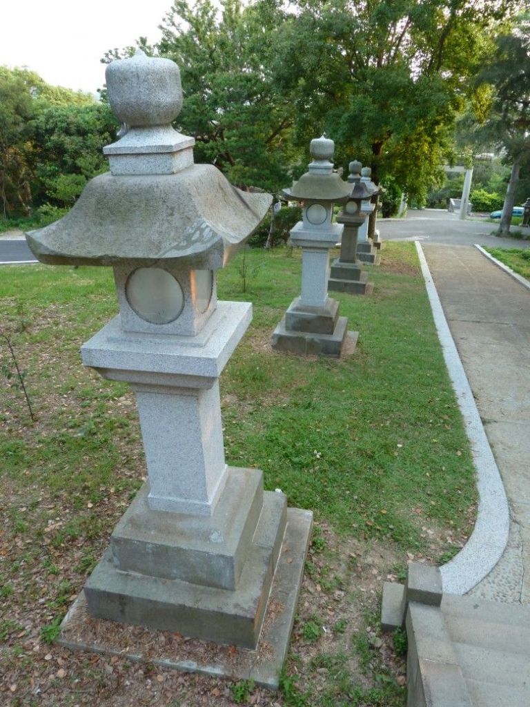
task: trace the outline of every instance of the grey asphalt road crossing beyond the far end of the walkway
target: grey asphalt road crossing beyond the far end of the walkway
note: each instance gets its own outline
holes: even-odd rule
[[[441,209],[409,210],[406,218],[378,218],[382,240],[419,240],[439,245],[487,245],[496,248],[526,248],[529,240],[497,238],[495,223],[485,219],[461,221],[458,214]],[[514,227],[512,227],[514,228]],[[514,228],[517,230],[517,227]],[[526,229],[530,235],[530,228]]]

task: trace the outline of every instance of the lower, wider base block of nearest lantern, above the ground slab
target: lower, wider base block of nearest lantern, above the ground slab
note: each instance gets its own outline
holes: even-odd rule
[[[84,588],[90,614],[255,648],[284,541],[286,506],[283,493],[264,493],[263,512],[235,590],[120,571],[109,548]],[[216,553],[215,542],[211,553]]]

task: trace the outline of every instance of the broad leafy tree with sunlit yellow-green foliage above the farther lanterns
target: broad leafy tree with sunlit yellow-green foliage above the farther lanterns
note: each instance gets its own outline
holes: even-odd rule
[[[452,151],[455,119],[490,35],[513,1],[298,0],[278,30],[274,73],[299,141],[325,130],[344,166],[392,176],[424,200]],[[512,8],[512,9],[510,9]]]

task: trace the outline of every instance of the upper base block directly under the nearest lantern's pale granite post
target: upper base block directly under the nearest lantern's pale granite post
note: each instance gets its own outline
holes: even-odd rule
[[[114,564],[124,572],[235,589],[263,506],[263,474],[229,467],[211,516],[153,510],[149,483],[110,538]]]

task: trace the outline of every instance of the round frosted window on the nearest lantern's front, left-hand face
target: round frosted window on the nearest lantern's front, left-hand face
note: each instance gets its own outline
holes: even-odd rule
[[[184,308],[182,287],[160,267],[140,267],[131,273],[125,295],[136,314],[151,324],[169,324]]]

